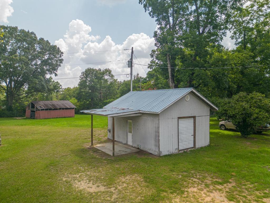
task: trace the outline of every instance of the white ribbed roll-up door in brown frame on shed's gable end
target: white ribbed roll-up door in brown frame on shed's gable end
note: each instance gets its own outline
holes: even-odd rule
[[[178,149],[194,147],[194,118],[178,119]]]

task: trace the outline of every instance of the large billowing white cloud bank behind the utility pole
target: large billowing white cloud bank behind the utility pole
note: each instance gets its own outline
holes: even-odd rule
[[[148,64],[150,62],[150,53],[154,49],[154,38],[150,38],[144,33],[130,35],[122,44],[115,44],[110,36],[106,36],[102,42],[97,43],[96,40],[99,36],[90,35],[91,27],[86,25],[81,20],[73,20],[69,24],[69,29],[62,39],[55,41],[55,44],[64,53],[74,52],[90,52],[90,51],[105,51],[105,50],[120,50],[134,48],[134,54],[142,64]],[[127,50],[130,54],[130,50]],[[95,53],[75,53],[64,54],[63,66],[58,69],[57,78],[67,77],[79,77],[80,73],[87,67],[94,68],[110,68],[113,74],[126,74],[130,73],[130,68],[127,67],[127,61],[116,61],[129,59],[130,56],[126,51],[107,51],[107,52],[95,52]],[[134,58],[134,57],[133,57]],[[111,63],[98,63],[79,66],[66,66],[69,64],[84,64],[103,61],[115,61]],[[134,58],[134,63],[138,63]],[[147,67],[144,67],[147,70]],[[137,72],[141,75],[146,75],[143,68],[139,65],[135,65],[133,74]],[[126,80],[126,76],[115,76],[119,80]],[[78,78],[57,80],[63,87],[73,87],[79,82]]]

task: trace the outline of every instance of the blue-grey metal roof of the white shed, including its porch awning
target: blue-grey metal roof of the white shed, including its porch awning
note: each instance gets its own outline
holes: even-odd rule
[[[218,110],[214,104],[203,97],[195,89],[180,88],[167,90],[132,91],[113,101],[112,103],[104,106],[103,109],[85,110],[81,112],[96,114],[93,112],[91,113],[91,111],[95,111],[99,112],[99,115],[117,114],[117,112],[131,114],[134,113],[132,111],[139,111],[140,113],[160,113],[189,92],[192,92],[204,103],[210,106],[211,110]],[[107,111],[112,111],[114,113],[107,114]]]

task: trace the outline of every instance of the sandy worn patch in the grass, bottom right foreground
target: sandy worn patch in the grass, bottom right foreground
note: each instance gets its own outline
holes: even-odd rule
[[[181,177],[181,176],[179,176]],[[262,192],[249,192],[254,185],[248,183],[236,184],[233,179],[222,184],[222,180],[208,178],[202,180],[200,176],[190,178],[183,195],[172,195],[172,202],[213,202],[233,203],[237,202],[267,202],[270,199],[258,199]],[[233,195],[230,195],[233,194]],[[270,202],[267,202],[270,203]]]

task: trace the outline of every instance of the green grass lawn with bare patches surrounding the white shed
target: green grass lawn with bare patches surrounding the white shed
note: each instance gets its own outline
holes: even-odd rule
[[[94,116],[94,144],[107,118]],[[112,157],[90,145],[90,115],[0,118],[0,202],[270,202],[270,134],[210,120],[210,146]]]

